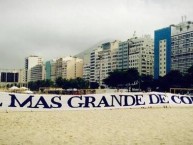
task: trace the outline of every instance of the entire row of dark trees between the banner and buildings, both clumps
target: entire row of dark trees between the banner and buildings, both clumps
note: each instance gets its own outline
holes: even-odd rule
[[[147,91],[169,91],[170,88],[191,88],[193,87],[193,66],[187,70],[187,73],[182,74],[177,70],[170,71],[167,75],[153,79],[151,75],[139,75],[134,68],[127,71],[114,70],[110,72],[108,77],[103,80],[103,83],[108,88],[116,89],[130,89]],[[32,91],[38,91],[40,87],[60,87],[63,89],[97,89],[99,84],[97,82],[89,82],[83,78],[63,79],[57,78],[55,82],[51,80],[39,80],[36,82],[29,82],[28,87]]]

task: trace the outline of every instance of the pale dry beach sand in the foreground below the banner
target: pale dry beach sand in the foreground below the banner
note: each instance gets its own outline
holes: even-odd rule
[[[0,112],[0,144],[193,144],[193,108]]]

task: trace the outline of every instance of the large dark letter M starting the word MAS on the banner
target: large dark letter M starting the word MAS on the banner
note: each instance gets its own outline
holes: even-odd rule
[[[31,107],[32,105],[32,97],[34,96],[29,96],[23,103],[21,103],[19,102],[19,100],[16,98],[14,94],[9,94],[9,95],[11,96],[11,104],[9,105],[9,107],[17,107],[16,102],[17,104],[19,104],[20,107],[24,107],[27,103],[30,103],[28,107]]]

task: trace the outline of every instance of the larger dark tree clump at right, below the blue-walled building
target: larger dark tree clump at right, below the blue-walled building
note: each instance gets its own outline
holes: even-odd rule
[[[109,73],[104,83],[111,88],[132,88],[147,91],[169,91],[170,88],[191,88],[193,87],[193,66],[182,74],[178,70],[172,70],[163,77],[153,79],[151,75],[139,75],[136,69],[127,71],[115,70]]]

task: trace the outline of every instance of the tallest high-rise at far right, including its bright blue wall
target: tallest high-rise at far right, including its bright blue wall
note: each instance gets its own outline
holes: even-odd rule
[[[154,78],[171,70],[186,73],[193,65],[193,22],[182,21],[156,30],[154,37]]]

